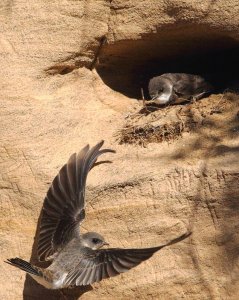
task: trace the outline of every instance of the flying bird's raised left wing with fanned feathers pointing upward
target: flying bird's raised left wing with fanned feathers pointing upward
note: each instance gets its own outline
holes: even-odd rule
[[[85,185],[88,172],[97,158],[111,149],[102,149],[104,141],[90,149],[85,146],[74,153],[53,180],[44,200],[38,257],[48,260],[59,248],[79,234],[79,224],[85,218]]]

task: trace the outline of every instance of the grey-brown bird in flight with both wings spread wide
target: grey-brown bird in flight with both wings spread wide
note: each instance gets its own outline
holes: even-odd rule
[[[137,266],[165,246],[182,241],[185,233],[161,246],[143,249],[102,248],[108,245],[96,232],[80,234],[85,218],[85,185],[89,171],[103,153],[103,141],[90,149],[74,153],[53,180],[43,204],[38,242],[38,257],[50,260],[46,268],[36,267],[20,258],[6,262],[27,272],[49,289],[89,285]]]

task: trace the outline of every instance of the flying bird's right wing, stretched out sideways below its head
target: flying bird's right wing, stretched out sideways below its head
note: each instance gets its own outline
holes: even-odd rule
[[[154,248],[89,250],[75,269],[68,273],[64,285],[88,285],[124,273],[150,258],[156,251],[180,242],[190,234],[183,234],[167,244]]]

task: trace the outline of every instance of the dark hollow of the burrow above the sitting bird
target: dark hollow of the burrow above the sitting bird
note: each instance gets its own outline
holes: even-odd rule
[[[96,67],[111,89],[130,98],[146,99],[148,81],[167,72],[198,74],[219,91],[239,79],[239,41],[206,26],[172,26],[138,40],[105,44]],[[239,84],[238,84],[239,85]]]

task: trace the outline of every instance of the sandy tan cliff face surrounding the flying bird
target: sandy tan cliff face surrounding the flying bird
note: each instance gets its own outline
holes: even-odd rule
[[[82,230],[112,247],[156,246],[187,228],[193,235],[68,298],[238,299],[238,97],[135,114],[157,68],[180,69],[189,57],[187,70],[218,71],[218,60],[204,63],[218,50],[223,70],[233,66],[238,1],[4,0],[0,20],[1,261],[36,261],[51,180],[71,153],[105,139],[117,153],[89,176]],[[171,128],[170,138],[120,143],[126,126],[154,122]],[[1,299],[43,297],[59,293],[1,265]]]

